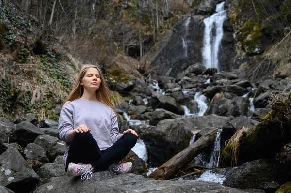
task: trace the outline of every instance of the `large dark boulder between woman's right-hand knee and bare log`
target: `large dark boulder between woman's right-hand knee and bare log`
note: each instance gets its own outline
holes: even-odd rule
[[[176,122],[160,126],[131,125],[144,140],[148,163],[158,167],[189,146],[191,133]]]

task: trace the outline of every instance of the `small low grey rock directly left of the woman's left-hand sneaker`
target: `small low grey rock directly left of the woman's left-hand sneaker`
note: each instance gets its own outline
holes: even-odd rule
[[[64,164],[47,163],[39,168],[37,172],[41,178],[51,178],[57,176],[66,176]]]

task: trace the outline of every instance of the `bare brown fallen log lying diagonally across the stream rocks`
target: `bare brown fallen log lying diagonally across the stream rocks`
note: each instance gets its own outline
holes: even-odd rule
[[[218,130],[216,129],[210,134],[203,135],[188,148],[179,152],[166,163],[162,164],[146,178],[154,178],[156,180],[171,178],[171,176],[176,174],[182,167],[190,163],[197,155],[212,145],[212,142],[215,140],[217,131]]]

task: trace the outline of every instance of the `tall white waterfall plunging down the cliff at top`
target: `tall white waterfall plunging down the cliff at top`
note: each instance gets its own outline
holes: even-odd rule
[[[222,2],[216,5],[216,14],[203,20],[205,24],[204,46],[202,49],[203,65],[206,68],[216,68],[218,71],[218,51],[223,37],[223,22],[227,17],[226,11],[224,10],[224,3]]]

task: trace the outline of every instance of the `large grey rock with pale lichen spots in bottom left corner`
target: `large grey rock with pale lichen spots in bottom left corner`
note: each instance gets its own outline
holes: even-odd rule
[[[8,148],[0,155],[0,181],[1,185],[16,193],[29,192],[36,187],[40,180],[20,153],[14,148]]]

